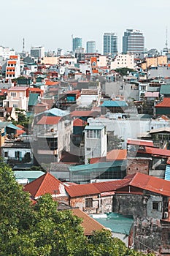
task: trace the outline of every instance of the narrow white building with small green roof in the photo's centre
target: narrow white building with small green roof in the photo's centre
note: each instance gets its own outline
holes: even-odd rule
[[[93,157],[107,156],[107,132],[104,125],[85,127],[85,164]]]

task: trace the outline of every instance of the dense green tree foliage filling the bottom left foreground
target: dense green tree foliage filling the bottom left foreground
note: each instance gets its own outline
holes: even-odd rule
[[[82,219],[72,211],[58,211],[51,195],[43,195],[31,205],[28,193],[2,160],[0,196],[0,256],[143,255],[112,238],[109,230],[96,231],[86,238]]]

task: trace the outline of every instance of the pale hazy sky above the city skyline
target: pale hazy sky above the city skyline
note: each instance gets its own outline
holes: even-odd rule
[[[145,48],[161,50],[170,39],[169,0],[6,0],[0,3],[0,45],[22,50],[45,46],[45,50],[72,50],[72,34],[96,41],[103,52],[104,32],[115,32],[122,51],[125,29],[139,29]],[[169,42],[169,40],[168,40]],[[169,42],[170,48],[170,42]]]

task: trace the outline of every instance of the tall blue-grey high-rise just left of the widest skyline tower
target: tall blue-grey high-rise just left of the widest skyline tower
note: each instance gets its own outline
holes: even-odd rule
[[[104,33],[104,55],[115,56],[117,54],[117,35]]]

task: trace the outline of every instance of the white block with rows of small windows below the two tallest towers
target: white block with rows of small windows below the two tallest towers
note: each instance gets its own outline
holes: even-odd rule
[[[110,69],[118,69],[128,67],[128,69],[134,69],[134,54],[122,54],[118,53],[115,56],[115,60],[111,62]]]

